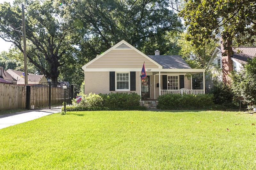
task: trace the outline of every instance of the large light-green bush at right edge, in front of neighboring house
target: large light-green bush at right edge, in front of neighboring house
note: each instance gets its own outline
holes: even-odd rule
[[[249,60],[240,71],[233,71],[231,78],[234,98],[242,99],[248,109],[256,107],[256,58]]]

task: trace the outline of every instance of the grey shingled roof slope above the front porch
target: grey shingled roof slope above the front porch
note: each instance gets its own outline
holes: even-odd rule
[[[148,55],[164,69],[191,69],[179,55]]]

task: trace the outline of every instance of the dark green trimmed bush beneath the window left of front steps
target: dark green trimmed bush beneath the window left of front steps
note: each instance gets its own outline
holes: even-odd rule
[[[99,94],[103,99],[103,106],[111,110],[145,110],[140,106],[140,95],[137,93],[109,93]]]

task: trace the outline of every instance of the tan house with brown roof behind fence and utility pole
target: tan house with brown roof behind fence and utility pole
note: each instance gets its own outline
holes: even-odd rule
[[[17,84],[18,85],[25,85],[25,78],[24,78],[24,73],[22,71],[18,71],[18,70],[12,70],[12,69],[8,69],[6,70],[6,72],[8,72],[13,78],[17,79]],[[32,73],[28,73],[28,84],[29,85],[37,85],[37,84],[41,84],[47,82],[47,79],[45,78],[44,75],[35,75]]]

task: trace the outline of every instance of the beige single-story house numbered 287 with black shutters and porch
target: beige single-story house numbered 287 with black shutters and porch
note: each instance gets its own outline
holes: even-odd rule
[[[143,63],[147,78],[141,80]],[[85,94],[90,92],[136,92],[142,99],[157,99],[159,95],[203,94],[205,69],[191,69],[179,55],[145,55],[122,40],[82,69],[85,75]],[[193,90],[191,75],[203,74],[203,89]]]

